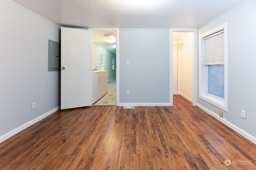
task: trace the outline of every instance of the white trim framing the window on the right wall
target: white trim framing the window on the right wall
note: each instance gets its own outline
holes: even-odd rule
[[[224,30],[224,99],[207,94],[208,88],[208,67],[204,65],[204,38]],[[199,36],[199,98],[228,111],[228,23],[222,24]]]

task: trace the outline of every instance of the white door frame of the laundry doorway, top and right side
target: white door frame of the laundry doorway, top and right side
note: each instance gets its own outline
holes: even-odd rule
[[[88,28],[92,31],[116,31],[116,106],[119,106],[119,28]]]

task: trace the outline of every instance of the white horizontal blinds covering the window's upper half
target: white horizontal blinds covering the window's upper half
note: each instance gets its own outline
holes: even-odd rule
[[[204,38],[204,65],[224,65],[224,30]]]

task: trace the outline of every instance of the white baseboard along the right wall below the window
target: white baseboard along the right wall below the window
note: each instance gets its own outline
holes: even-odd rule
[[[246,131],[242,130],[241,128],[237,127],[236,125],[230,123],[226,119],[223,119],[223,118],[219,117],[219,115],[210,111],[209,109],[206,109],[202,105],[198,104],[198,107],[200,109],[202,109],[203,111],[205,111],[206,113],[208,113],[209,115],[211,115],[212,117],[218,119],[220,122],[224,123],[228,127],[232,128],[233,130],[235,130],[236,132],[238,132],[239,134],[241,134],[242,136],[244,136],[245,138],[247,138],[248,140],[250,140],[254,144],[256,144],[256,138],[254,136],[252,136],[251,134],[247,133]]]

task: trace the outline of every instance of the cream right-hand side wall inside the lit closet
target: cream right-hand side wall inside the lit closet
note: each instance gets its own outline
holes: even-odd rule
[[[181,38],[184,45],[180,57],[180,95],[193,101],[193,32]]]

